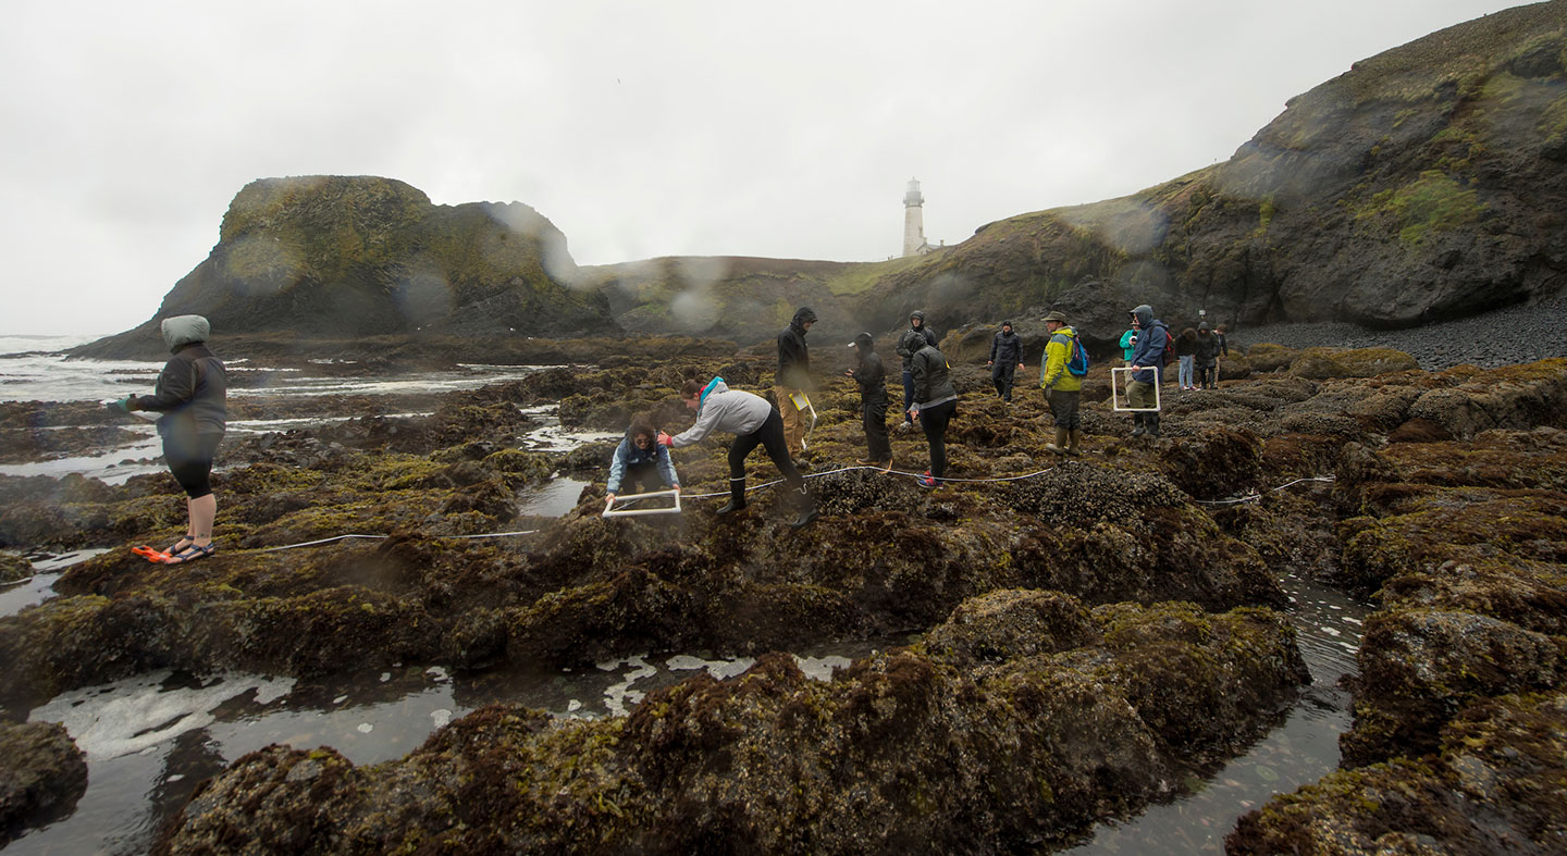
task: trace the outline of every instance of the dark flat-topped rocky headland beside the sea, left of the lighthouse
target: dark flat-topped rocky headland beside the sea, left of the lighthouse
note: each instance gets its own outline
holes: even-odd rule
[[[263,178],[223,218],[205,261],[154,319],[100,343],[157,343],[157,322],[196,313],[215,333],[605,335],[606,302],[567,283],[566,236],[522,203],[432,205],[376,177]]]

